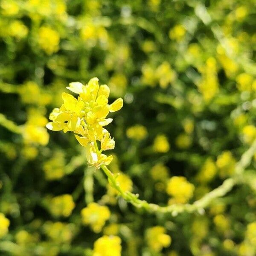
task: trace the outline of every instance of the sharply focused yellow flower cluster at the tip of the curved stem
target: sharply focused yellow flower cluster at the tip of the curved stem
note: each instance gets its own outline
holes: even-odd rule
[[[79,94],[78,99],[69,93],[62,93],[63,104],[50,113],[46,127],[52,131],[72,131],[78,142],[86,148],[86,158],[90,166],[97,169],[102,164],[108,165],[113,157],[102,154],[102,151],[113,149],[115,141],[104,128],[113,121],[106,118],[108,113],[118,111],[123,106],[121,98],[108,104],[110,89],[106,84],[99,86],[99,79],[90,79],[87,85],[79,82],[70,83],[67,87]],[[100,143],[98,148],[97,141]]]

